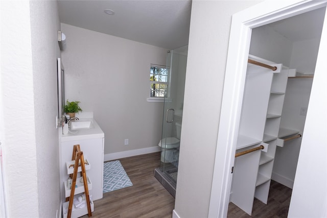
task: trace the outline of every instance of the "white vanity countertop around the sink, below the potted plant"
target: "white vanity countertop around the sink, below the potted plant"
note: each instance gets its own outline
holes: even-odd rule
[[[71,128],[69,128],[68,134],[65,135],[62,134],[61,130],[61,142],[91,138],[104,138],[104,133],[94,118],[80,118],[78,121],[91,121],[93,124],[93,128],[79,130],[71,130]],[[74,120],[72,120],[72,122],[74,122]]]

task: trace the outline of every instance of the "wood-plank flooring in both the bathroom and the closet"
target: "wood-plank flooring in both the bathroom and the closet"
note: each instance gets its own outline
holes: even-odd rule
[[[103,199],[94,201],[95,210],[91,217],[171,218],[175,199],[154,178],[154,169],[159,167],[160,153],[122,158],[120,161],[133,186],[104,193]],[[227,217],[287,217],[291,194],[292,189],[271,181],[267,205],[254,199],[252,216],[250,216],[233,203],[229,203]],[[82,217],[86,218],[88,215]]]

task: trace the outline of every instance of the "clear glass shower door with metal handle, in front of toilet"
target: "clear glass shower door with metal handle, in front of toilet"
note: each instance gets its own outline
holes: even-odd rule
[[[188,46],[167,53],[169,87],[162,120],[160,171],[176,185]]]

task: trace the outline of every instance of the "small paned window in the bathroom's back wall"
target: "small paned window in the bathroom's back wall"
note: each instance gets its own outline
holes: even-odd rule
[[[153,65],[150,68],[150,99],[167,98],[168,96],[168,68],[166,66]]]

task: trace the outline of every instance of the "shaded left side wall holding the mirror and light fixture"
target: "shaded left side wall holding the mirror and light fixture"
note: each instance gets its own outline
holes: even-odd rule
[[[31,1],[30,16],[39,217],[55,217],[60,207],[59,142],[55,125],[57,57],[60,57],[57,2]]]

